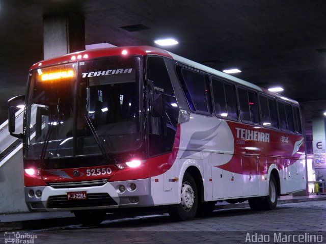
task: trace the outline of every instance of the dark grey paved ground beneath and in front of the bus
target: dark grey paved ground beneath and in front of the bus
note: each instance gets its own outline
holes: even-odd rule
[[[306,198],[325,200],[322,197]],[[104,221],[98,227],[66,224],[7,232],[33,243],[326,243],[326,202],[280,203],[273,211],[248,206],[215,210],[206,218],[174,222],[167,214]],[[237,206],[237,205],[233,205]],[[17,234],[18,233],[18,234]],[[257,238],[261,237],[262,241]],[[0,242],[5,233],[0,233]],[[304,240],[304,242],[299,242]],[[261,239],[260,239],[261,240]]]

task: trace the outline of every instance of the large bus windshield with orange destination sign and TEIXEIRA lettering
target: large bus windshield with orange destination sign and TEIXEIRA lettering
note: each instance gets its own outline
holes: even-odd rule
[[[30,73],[25,158],[119,153],[142,144],[140,58],[111,57]]]

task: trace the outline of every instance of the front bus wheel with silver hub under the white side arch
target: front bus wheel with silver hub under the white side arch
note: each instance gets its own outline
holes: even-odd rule
[[[181,185],[181,202],[171,206],[169,215],[177,221],[189,221],[195,218],[197,208],[197,185],[193,176],[185,172]]]

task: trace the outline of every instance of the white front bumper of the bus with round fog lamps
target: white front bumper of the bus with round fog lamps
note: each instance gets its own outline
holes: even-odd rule
[[[131,183],[137,186],[133,191],[130,187]],[[121,185],[125,186],[123,193],[119,191]],[[31,190],[34,195],[30,194]],[[37,191],[41,191],[40,197],[36,195]],[[68,192],[87,192],[87,199],[68,200]],[[73,211],[154,206],[150,178],[106,182],[100,186],[70,188],[25,186],[25,201],[30,211]]]

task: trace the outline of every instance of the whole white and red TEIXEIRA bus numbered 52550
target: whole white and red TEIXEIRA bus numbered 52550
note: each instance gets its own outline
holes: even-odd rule
[[[98,224],[165,206],[178,220],[249,200],[274,209],[306,188],[299,104],[149,46],[86,50],[31,67],[9,101],[31,211]],[[24,103],[22,133],[15,106]]]

